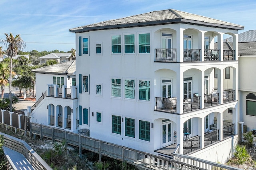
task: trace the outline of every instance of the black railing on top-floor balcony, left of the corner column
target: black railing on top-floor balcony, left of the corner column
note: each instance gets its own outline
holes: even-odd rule
[[[156,49],[156,62],[176,62],[177,49]]]

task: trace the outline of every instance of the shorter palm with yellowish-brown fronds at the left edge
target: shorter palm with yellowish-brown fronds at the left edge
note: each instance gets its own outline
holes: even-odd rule
[[[4,86],[8,84],[8,64],[0,63],[0,85],[1,85],[1,98],[4,98]]]

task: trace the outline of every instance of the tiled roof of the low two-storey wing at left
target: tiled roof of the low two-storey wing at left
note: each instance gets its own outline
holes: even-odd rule
[[[72,75],[75,71],[76,61],[67,61],[64,63],[53,64],[50,66],[40,67],[32,70],[32,72],[35,73],[59,75]]]

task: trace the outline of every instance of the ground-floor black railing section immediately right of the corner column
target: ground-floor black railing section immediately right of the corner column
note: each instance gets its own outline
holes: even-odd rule
[[[183,154],[187,154],[200,148],[200,136],[183,141]]]

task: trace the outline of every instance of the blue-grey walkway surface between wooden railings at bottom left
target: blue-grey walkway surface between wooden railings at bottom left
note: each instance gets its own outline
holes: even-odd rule
[[[16,167],[16,170],[35,170],[35,168],[28,162],[28,160],[20,154],[8,147],[4,148],[4,154],[8,158],[12,167]]]

